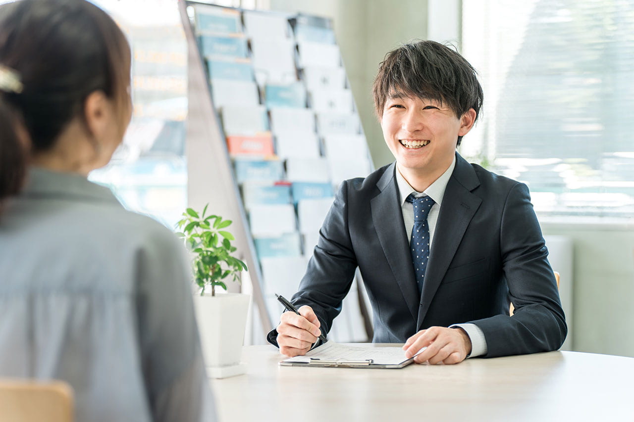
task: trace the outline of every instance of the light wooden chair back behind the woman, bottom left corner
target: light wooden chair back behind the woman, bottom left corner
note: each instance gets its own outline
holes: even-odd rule
[[[0,422],[72,422],[73,406],[63,381],[0,379]]]

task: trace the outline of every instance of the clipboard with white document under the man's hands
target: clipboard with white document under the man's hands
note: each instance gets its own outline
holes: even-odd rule
[[[425,350],[422,348],[420,352]],[[420,353],[418,352],[418,353]],[[328,340],[303,356],[280,362],[280,366],[318,366],[339,368],[390,368],[408,366],[414,357],[405,357],[401,347],[362,347],[342,345]]]

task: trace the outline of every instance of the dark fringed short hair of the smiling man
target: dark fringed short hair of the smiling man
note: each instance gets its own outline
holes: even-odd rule
[[[470,108],[480,115],[484,95],[469,61],[435,41],[415,41],[385,54],[372,85],[374,107],[383,116],[390,96],[426,98],[448,105],[460,118]],[[458,145],[461,139],[458,138]]]

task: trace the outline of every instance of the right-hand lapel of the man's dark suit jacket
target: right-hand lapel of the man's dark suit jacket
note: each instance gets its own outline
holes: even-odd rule
[[[417,329],[421,328],[429,305],[458,250],[467,226],[482,203],[478,196],[471,193],[479,184],[473,167],[456,153],[456,167],[444,191],[429,254],[429,267],[425,271]]]

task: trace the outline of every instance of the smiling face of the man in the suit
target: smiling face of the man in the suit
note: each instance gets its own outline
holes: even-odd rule
[[[458,136],[467,134],[474,120],[473,109],[458,118],[432,99],[391,96],[385,101],[381,127],[401,174],[434,181],[451,165]]]

